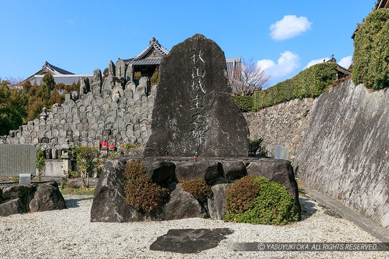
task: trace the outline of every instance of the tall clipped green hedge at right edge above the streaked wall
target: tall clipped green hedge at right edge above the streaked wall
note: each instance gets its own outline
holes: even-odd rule
[[[389,86],[389,9],[370,13],[354,37],[353,81],[375,90]]]

